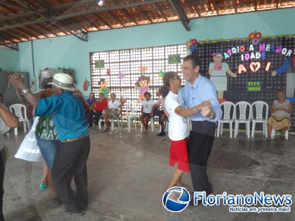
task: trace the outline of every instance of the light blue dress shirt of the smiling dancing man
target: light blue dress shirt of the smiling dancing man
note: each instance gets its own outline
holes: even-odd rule
[[[216,96],[216,88],[214,84],[199,73],[196,81],[192,85],[190,82],[184,84],[184,88],[181,91],[181,97],[188,108],[193,108],[202,104],[204,101],[209,100],[211,103],[211,110],[216,113],[216,117],[210,119],[209,117],[203,117],[201,111],[189,116],[192,121],[210,121],[217,122],[222,116],[219,102]]]

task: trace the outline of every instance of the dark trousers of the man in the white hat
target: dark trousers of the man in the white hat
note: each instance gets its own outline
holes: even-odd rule
[[[86,162],[90,151],[89,136],[60,142],[53,162],[52,179],[59,199],[68,211],[78,211],[88,204]],[[71,191],[74,177],[76,196]]]

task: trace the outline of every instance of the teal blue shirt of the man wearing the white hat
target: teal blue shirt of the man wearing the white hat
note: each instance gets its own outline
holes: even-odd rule
[[[79,138],[89,133],[83,103],[68,90],[60,95],[38,99],[35,116],[47,115],[52,115],[60,140]]]

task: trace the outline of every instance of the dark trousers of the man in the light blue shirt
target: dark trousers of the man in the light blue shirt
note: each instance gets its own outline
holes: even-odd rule
[[[188,156],[195,191],[212,191],[207,176],[207,160],[213,145],[215,129],[214,122],[192,121],[192,131],[188,139]]]

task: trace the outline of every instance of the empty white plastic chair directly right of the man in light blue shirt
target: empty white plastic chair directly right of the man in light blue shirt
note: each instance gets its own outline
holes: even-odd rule
[[[233,138],[233,123],[234,123],[235,117],[236,117],[236,115],[235,115],[236,114],[236,106],[235,106],[235,104],[233,102],[230,102],[230,101],[222,102],[220,104],[220,107],[222,107],[222,106],[223,106],[223,109],[224,109],[224,114],[223,114],[223,118],[218,120],[217,138],[219,138],[219,133],[220,133],[220,135],[222,135],[223,124],[224,123],[228,123],[230,125],[230,138]],[[234,109],[233,117],[231,117],[232,107]]]

